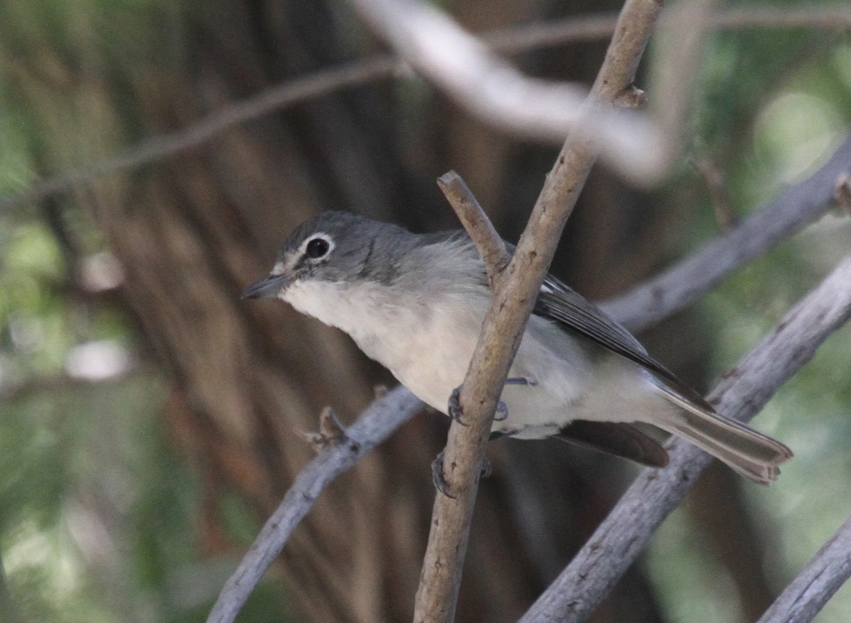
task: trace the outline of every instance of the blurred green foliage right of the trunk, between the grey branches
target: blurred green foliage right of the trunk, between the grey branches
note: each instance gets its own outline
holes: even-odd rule
[[[812,173],[848,133],[851,46],[841,42],[805,30],[754,29],[711,37],[694,157],[720,165],[737,217]],[[680,241],[683,253],[717,228],[708,194],[701,203],[688,211],[695,222],[692,239]],[[713,289],[700,303],[714,324],[713,376],[762,340],[848,249],[848,215],[830,214]],[[755,420],[796,454],[770,489],[740,483],[771,552],[763,564],[777,591],[851,508],[849,341],[851,327],[833,334]],[[674,621],[743,620],[732,580],[695,540],[686,514],[677,509],[654,534],[648,552],[666,614]],[[851,586],[844,586],[815,620],[842,623],[848,612]]]

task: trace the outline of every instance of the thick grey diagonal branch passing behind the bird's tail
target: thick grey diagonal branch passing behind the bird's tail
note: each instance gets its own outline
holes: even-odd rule
[[[786,314],[774,331],[712,390],[720,413],[750,420],[851,317],[851,257]],[[711,457],[682,440],[669,444],[671,463],[646,469],[588,543],[523,616],[522,623],[581,621],[614,587],[662,520],[683,499]]]

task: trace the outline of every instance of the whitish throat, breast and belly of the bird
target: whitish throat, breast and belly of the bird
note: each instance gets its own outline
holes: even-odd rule
[[[431,300],[396,305],[380,286],[351,289],[329,282],[296,283],[284,295],[300,312],[350,334],[364,353],[383,364],[404,386],[434,409],[447,412],[454,388],[464,380],[487,307],[484,297],[442,293]],[[344,304],[345,301],[345,304]],[[345,314],[339,311],[346,309]],[[631,418],[629,397],[620,400],[619,380],[634,367],[611,357],[612,374],[599,374],[599,356],[540,317],[532,317],[511,366],[502,401],[508,418],[494,431],[545,437],[574,419]],[[616,374],[615,374],[616,373]],[[608,377],[608,378],[607,378]]]

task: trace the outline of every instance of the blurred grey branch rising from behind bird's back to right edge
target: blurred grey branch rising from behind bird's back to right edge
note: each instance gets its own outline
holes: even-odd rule
[[[604,302],[609,316],[632,331],[659,323],[772,245],[818,220],[834,202],[842,174],[851,173],[851,135],[833,156],[806,180],[702,249],[626,294]]]

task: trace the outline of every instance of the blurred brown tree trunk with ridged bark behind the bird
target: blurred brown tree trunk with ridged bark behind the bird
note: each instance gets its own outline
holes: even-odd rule
[[[547,16],[552,7],[503,0],[453,9],[482,30]],[[72,69],[54,51],[31,60],[31,69],[55,75],[59,66],[68,81],[83,83],[77,121],[92,117],[93,151],[83,151],[91,162],[98,145],[111,151],[111,133],[179,129],[221,104],[363,54],[356,23],[339,3],[214,2],[163,34],[160,62],[134,59],[101,71],[105,55]],[[591,77],[603,51],[601,43],[572,54],[574,76]],[[522,62],[547,72],[545,55]],[[432,181],[450,166],[506,237],[534,203],[553,151],[518,146],[418,89],[386,81],[328,94],[77,193],[123,266],[129,310],[174,378],[166,414],[203,468],[208,508],[235,488],[264,519],[311,458],[297,432],[315,428],[325,405],[351,421],[374,384],[393,382],[340,332],[279,302],[239,300],[269,271],[288,231],[328,207],[420,231],[455,226]],[[75,123],[74,112],[60,114],[43,93],[31,98],[50,123]],[[70,166],[79,146],[57,151],[43,150],[46,168]],[[592,177],[583,201],[572,230],[582,234],[568,232],[561,272],[569,264],[585,294],[611,294],[658,260],[648,254],[662,248],[658,221],[644,219],[643,229],[625,222],[631,210],[623,203],[641,198],[605,173]],[[582,226],[590,213],[596,228]],[[641,260],[624,261],[639,252]],[[420,415],[318,500],[282,556],[288,593],[307,619],[409,619],[434,495],[429,465],[446,426]],[[496,471],[478,500],[459,620],[516,620],[614,503],[621,484],[612,487],[612,478],[623,481],[612,476],[620,465],[555,443],[492,450]],[[622,586],[597,620],[659,620],[640,574]]]

